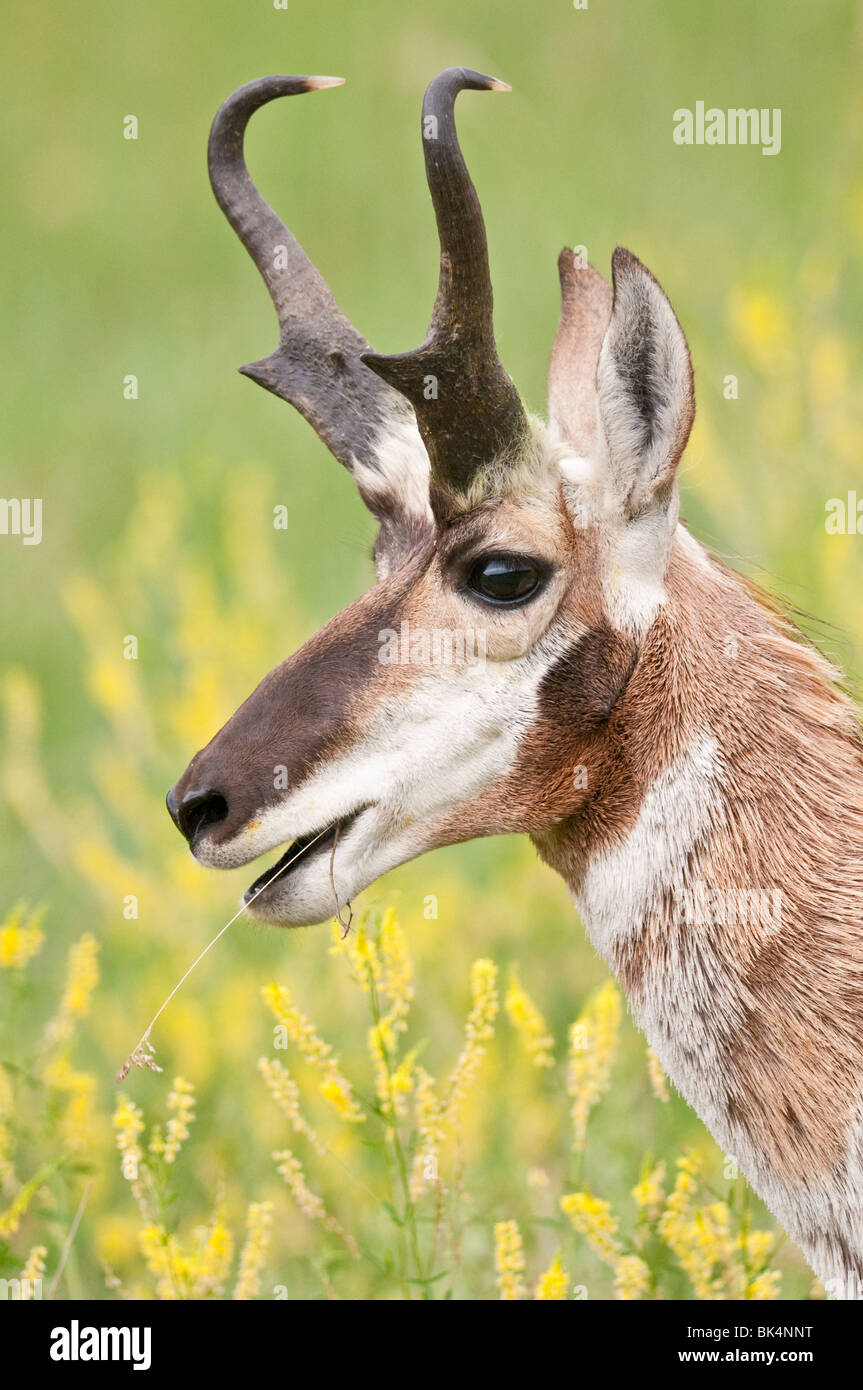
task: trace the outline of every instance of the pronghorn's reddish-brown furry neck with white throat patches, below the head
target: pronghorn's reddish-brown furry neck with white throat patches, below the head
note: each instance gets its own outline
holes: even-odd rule
[[[668,1076],[819,1275],[859,1294],[857,717],[688,538],[667,591],[609,726],[613,805],[598,784],[589,817],[539,848]]]

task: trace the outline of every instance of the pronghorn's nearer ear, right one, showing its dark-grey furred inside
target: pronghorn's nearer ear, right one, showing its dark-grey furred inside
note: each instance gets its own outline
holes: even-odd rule
[[[611,259],[614,304],[596,373],[609,484],[628,517],[667,507],[695,416],[684,331],[631,252]]]

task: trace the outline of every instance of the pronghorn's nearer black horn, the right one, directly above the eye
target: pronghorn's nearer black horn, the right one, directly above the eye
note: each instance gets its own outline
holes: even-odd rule
[[[464,491],[484,464],[527,436],[518,392],[498,357],[485,224],[459,147],[459,92],[509,92],[471,68],[446,68],[422,101],[425,175],[441,239],[438,296],[414,352],[363,361],[414,407],[432,464],[432,486]]]

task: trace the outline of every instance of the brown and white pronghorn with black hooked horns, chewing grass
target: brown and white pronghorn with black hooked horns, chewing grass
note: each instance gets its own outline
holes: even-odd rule
[[[292,841],[246,894],[282,926],[322,922],[334,898],[338,910],[425,851],[528,834],[668,1076],[813,1269],[853,1297],[857,714],[827,660],[678,521],[689,352],[630,252],[614,252],[613,288],[561,253],[550,421],[525,413],[495,346],[453,121],[461,90],[504,83],[449,68],[425,95],[441,239],[425,342],[379,356],[343,317],[243,161],[260,106],[339,81],[240,88],[213,124],[210,177],[281,325],[275,352],[240,371],[353,475],[379,521],[377,584],[196,753],[171,816],[213,867]],[[388,634],[467,630],[482,660],[413,660],[410,642],[407,660],[382,659]]]

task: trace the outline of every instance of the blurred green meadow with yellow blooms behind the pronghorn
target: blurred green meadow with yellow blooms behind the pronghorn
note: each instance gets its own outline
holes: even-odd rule
[[[349,317],[378,350],[396,352],[421,341],[436,285],[424,86],[453,63],[510,82],[506,97],[461,97],[459,126],[489,229],[500,353],[527,403],[543,409],[557,252],[585,245],[606,272],[614,245],[630,246],[692,348],[699,417],[684,516],[816,613],[805,626],[856,684],[863,538],[828,537],[824,507],[857,486],[863,457],[863,6],[290,0],[281,11],[267,0],[83,0],[61,11],[13,3],[6,18],[0,492],[40,496],[44,537],[29,548],[0,537],[0,873],[10,908],[44,905],[47,938],[29,984],[7,981],[22,1008],[6,1047],[25,1068],[68,947],[94,933],[101,980],[76,1042],[94,1079],[94,1188],[64,1277],[69,1293],[106,1297],[108,1255],[138,1287],[106,1119],[114,1068],[247,880],[197,870],[161,798],[264,671],[372,578],[372,523],[350,480],[299,416],[235,371],[275,345],[277,325],[208,189],[215,108],[267,72],[349,79],[256,115],[247,160]],[[674,145],[673,111],[698,100],[780,107],[778,157]],[[138,140],[122,138],[129,114]],[[124,399],[128,374],[138,400]],[[723,395],[728,374],[739,399]],[[272,531],[278,503],[288,532]],[[122,660],[126,634],[139,639],[138,663]],[[135,922],[122,916],[126,894],[139,898]],[[422,917],[428,894],[439,898],[434,922]],[[523,842],[439,852],[393,873],[371,901],[397,908],[421,963],[432,1070],[457,1052],[477,955],[521,962],[559,1044],[605,977],[561,884]],[[192,1207],[222,1183],[240,1211],[272,1180],[272,1145],[246,1143],[247,1086],[258,1084],[268,1038],[260,984],[289,979],[343,1059],[361,1044],[357,997],[334,986],[327,941],[232,929],[165,1016],[165,1077],[126,1083],[147,1113],[171,1069],[200,1088],[207,1143],[189,1155]],[[639,1048],[625,1033],[621,1081],[591,1150],[592,1179],[616,1202],[645,1151],[700,1143],[682,1104],[657,1112]],[[495,1074],[477,1198],[486,1232],[518,1215],[518,1163],[541,1162],[545,1133],[531,1148],[503,1059]],[[44,1115],[28,1131],[33,1155],[40,1125]],[[75,1173],[42,1215],[33,1208],[32,1232],[25,1223],[10,1237],[10,1269],[40,1220],[56,1254],[81,1194]],[[311,1264],[290,1264],[317,1240],[297,1232],[281,1248],[288,1283],[324,1297]],[[482,1240],[477,1250],[491,1269]],[[794,1251],[788,1269],[785,1287],[805,1290]],[[457,1295],[493,1295],[477,1277]],[[599,1265],[592,1277],[596,1295],[607,1291]],[[352,1286],[385,1297],[382,1287]]]

